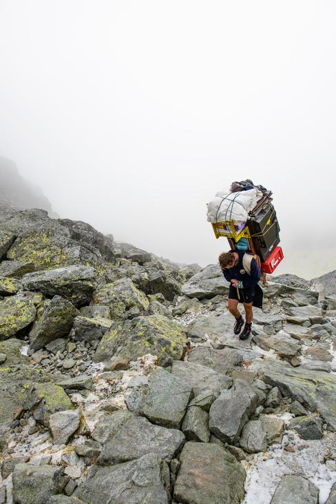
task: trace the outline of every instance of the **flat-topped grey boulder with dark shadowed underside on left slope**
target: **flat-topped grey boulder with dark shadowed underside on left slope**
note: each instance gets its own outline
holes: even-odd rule
[[[22,283],[26,290],[43,292],[45,296],[59,294],[78,308],[90,303],[97,285],[96,279],[94,268],[71,265],[25,274]]]

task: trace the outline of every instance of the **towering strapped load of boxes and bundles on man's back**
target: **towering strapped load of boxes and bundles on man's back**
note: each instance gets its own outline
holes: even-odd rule
[[[207,220],[216,238],[225,236],[231,249],[250,250],[260,257],[262,272],[272,273],[284,255],[272,192],[249,179],[233,182],[208,203]]]

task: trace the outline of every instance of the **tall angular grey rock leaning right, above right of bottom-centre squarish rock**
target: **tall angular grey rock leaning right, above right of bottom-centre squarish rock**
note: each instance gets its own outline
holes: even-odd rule
[[[236,380],[230,390],[222,390],[210,407],[209,429],[223,443],[237,441],[249,415],[258,405],[258,396],[246,381]]]

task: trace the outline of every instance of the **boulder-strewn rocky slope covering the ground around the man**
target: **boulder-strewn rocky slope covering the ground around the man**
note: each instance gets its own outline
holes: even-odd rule
[[[336,504],[336,295],[0,211],[0,504]]]

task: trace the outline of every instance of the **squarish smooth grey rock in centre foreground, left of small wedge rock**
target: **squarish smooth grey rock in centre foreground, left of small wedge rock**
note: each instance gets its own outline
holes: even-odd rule
[[[189,383],[157,368],[149,375],[148,392],[140,403],[140,413],[153,423],[179,429],[191,398]]]

